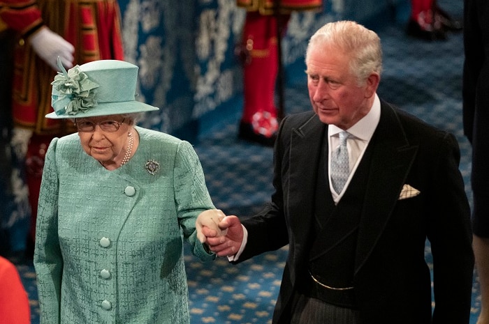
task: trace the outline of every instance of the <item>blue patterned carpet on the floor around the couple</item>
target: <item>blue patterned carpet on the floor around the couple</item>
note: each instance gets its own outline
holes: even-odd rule
[[[462,15],[462,1],[439,1],[455,16]],[[462,34],[446,42],[425,43],[404,35],[403,26],[378,31],[384,46],[384,75],[379,95],[457,137],[470,201],[471,148],[462,134]],[[298,73],[303,73],[298,71]],[[300,79],[300,78],[299,78]],[[305,81],[286,86],[286,112],[310,109]],[[239,110],[239,109],[238,109]],[[212,128],[195,149],[205,171],[207,187],[218,208],[225,213],[248,216],[268,201],[272,192],[272,149],[236,139],[238,114]],[[240,265],[226,259],[200,263],[186,249],[191,323],[271,323],[271,316],[286,259],[287,249],[257,256]],[[430,246],[426,260],[432,266]],[[18,265],[29,293],[32,324],[38,324],[34,268]],[[479,284],[474,276],[471,324],[480,311]]]

